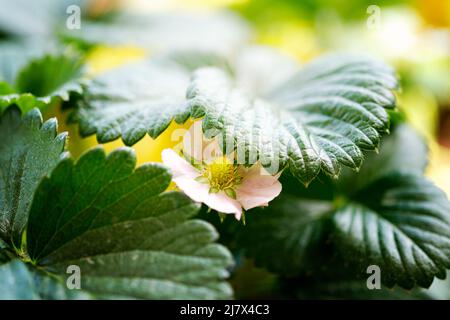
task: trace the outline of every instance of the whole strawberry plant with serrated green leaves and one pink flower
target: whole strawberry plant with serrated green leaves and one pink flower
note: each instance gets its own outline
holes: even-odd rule
[[[0,23],[0,298],[443,298],[428,288],[450,269],[450,202],[388,64],[300,64],[228,14],[65,30],[65,7],[41,6],[51,48]],[[129,39],[152,54],[89,72]],[[161,163],[137,164],[171,132]],[[76,157],[78,135],[100,146]]]

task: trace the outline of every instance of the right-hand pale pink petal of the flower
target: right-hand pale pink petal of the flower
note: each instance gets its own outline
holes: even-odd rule
[[[245,210],[267,206],[280,194],[278,175],[268,174],[260,164],[253,165],[243,174],[242,183],[236,188],[236,198]]]

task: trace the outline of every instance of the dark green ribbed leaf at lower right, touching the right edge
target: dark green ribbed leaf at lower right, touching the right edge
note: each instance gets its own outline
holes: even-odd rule
[[[450,268],[450,205],[420,175],[390,174],[333,215],[341,253],[366,268],[378,265],[384,283],[429,287]],[[351,255],[351,256],[350,256]]]

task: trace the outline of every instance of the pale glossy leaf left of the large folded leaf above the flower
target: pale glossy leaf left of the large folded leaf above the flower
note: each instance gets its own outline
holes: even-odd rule
[[[70,121],[83,136],[97,134],[100,143],[122,137],[133,145],[148,133],[159,136],[174,117],[184,122],[189,73],[174,63],[130,64],[102,74],[88,88],[85,103]]]

